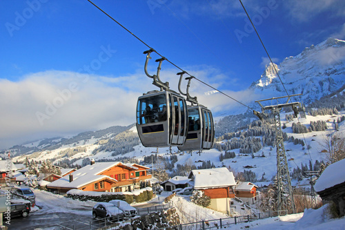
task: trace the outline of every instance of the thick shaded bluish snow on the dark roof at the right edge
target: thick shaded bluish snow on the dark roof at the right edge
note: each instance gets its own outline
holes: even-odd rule
[[[328,166],[324,172],[317,179],[314,186],[315,191],[324,191],[337,184],[342,184],[345,182],[345,159],[339,160]]]

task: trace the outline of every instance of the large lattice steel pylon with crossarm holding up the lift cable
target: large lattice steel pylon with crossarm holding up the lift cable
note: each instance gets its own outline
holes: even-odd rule
[[[280,124],[279,114],[282,108],[285,107],[292,107],[293,111],[295,111],[294,108],[297,108],[297,106],[301,107],[301,104],[299,102],[289,102],[290,97],[293,96],[298,95],[286,96],[288,97],[288,100],[285,104],[277,104],[274,106],[262,106],[260,102],[273,99],[281,99],[285,97],[273,97],[271,99],[263,99],[255,102],[259,103],[259,105],[262,107],[262,112],[270,110],[273,113],[274,117],[277,144],[277,211],[288,210],[288,207],[290,207],[293,210],[293,213],[296,213],[295,201],[293,199],[293,188],[291,186],[290,173],[288,171],[288,162],[286,160],[284,137],[282,132],[282,126]],[[255,111],[254,114],[257,115],[260,119],[264,117],[261,113],[257,111]],[[295,115],[297,114],[295,113]]]

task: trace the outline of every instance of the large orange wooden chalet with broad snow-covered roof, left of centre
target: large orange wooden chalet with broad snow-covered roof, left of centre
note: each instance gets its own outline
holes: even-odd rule
[[[66,193],[70,189],[82,191],[132,191],[139,182],[150,179],[148,167],[121,162],[91,162],[77,171],[47,184],[47,189]]]

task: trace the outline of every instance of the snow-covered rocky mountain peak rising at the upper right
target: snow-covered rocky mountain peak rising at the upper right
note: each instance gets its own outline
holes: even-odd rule
[[[328,38],[316,46],[305,48],[295,57],[286,57],[279,65],[266,66],[250,89],[267,95],[267,98],[286,95],[276,70],[288,94],[302,93],[302,97],[295,100],[309,104],[345,84],[345,41]]]

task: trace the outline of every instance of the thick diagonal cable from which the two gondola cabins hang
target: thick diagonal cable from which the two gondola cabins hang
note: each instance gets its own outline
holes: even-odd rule
[[[103,14],[105,14],[106,16],[108,16],[110,19],[112,19],[112,21],[115,21],[119,26],[121,26],[122,28],[124,28],[127,32],[129,32],[133,37],[135,37],[136,39],[138,39],[139,41],[141,41],[142,44],[144,44],[145,46],[147,46],[148,48],[150,48],[150,52],[156,52],[157,55],[159,55],[160,57],[164,58],[166,61],[168,61],[170,64],[172,64],[172,66],[175,66],[176,68],[178,68],[179,70],[183,71],[186,73],[186,75],[189,75],[190,77],[193,77],[195,79],[197,79],[197,77],[194,77],[193,75],[190,75],[188,72],[186,72],[186,70],[183,70],[182,68],[180,68],[179,66],[177,66],[176,64],[172,63],[172,61],[169,61],[168,59],[166,59],[166,57],[164,57],[163,55],[159,54],[159,52],[157,52],[154,48],[152,48],[151,46],[149,46],[148,44],[146,44],[143,40],[141,40],[139,37],[137,37],[135,34],[133,34],[132,32],[130,32],[130,30],[128,30],[125,26],[123,26],[121,23],[119,23],[119,21],[115,20],[113,17],[111,17],[110,15],[108,15],[108,13],[106,13],[104,10],[102,10],[101,8],[99,8],[99,6],[97,6],[95,3],[93,3],[91,0],[87,0],[88,2],[90,2],[93,6],[95,6],[97,9],[99,9],[101,12],[103,12]],[[237,99],[230,97],[229,95],[227,95],[226,93],[221,92],[220,90],[218,90],[217,88],[214,88],[213,86],[210,86],[209,84],[207,84],[206,82],[201,81],[200,79],[197,79],[199,82],[201,82],[202,84],[205,84],[206,86],[212,88],[213,90],[216,90],[217,92],[221,93],[222,95],[225,95],[226,97],[233,99],[235,102],[242,104],[242,106],[245,106],[247,108],[249,108],[250,110],[254,111],[253,108],[250,108],[249,106],[247,106],[246,104],[243,104],[242,102],[239,102]]]

